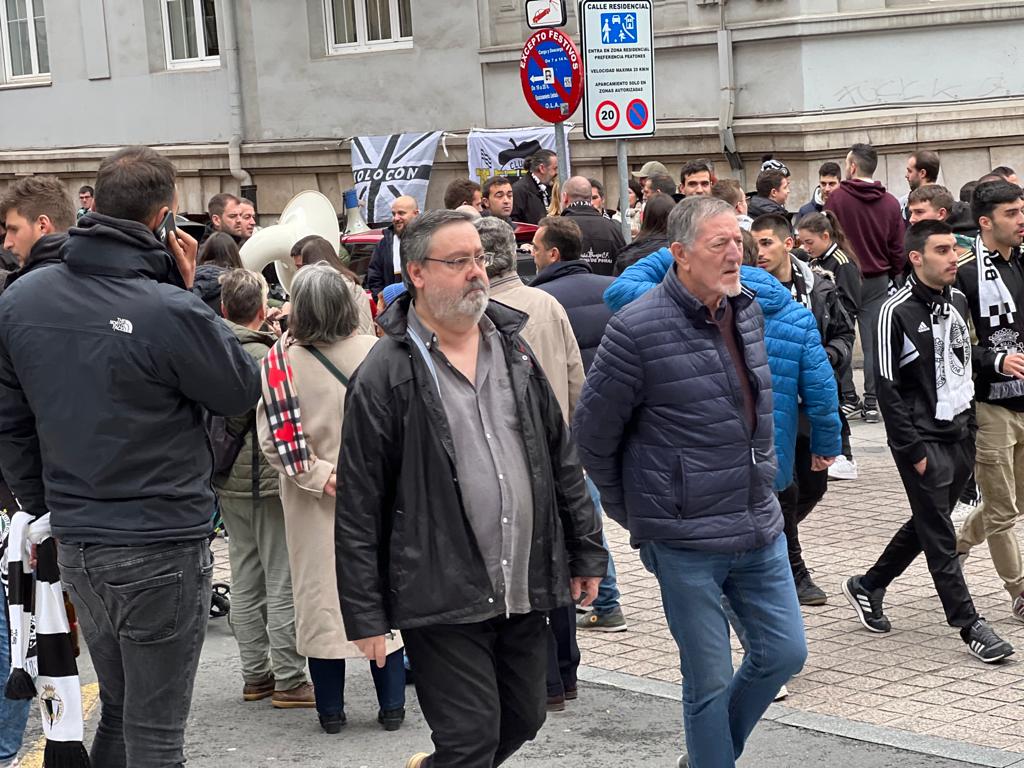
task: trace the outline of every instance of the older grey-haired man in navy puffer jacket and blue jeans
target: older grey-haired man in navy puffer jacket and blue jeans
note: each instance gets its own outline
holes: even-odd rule
[[[739,282],[732,208],[690,198],[669,218],[675,268],[613,316],[573,434],[607,514],[662,588],[680,649],[690,760],[732,768],[807,655],[773,493],[764,317]],[[728,598],[750,652],[733,675]]]

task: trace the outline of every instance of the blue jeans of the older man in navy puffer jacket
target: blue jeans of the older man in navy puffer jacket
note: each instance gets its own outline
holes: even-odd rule
[[[640,545],[662,588],[683,673],[683,726],[691,768],[733,768],[778,689],[804,666],[807,642],[785,536],[760,549],[720,553]],[[728,598],[746,656],[733,674]]]

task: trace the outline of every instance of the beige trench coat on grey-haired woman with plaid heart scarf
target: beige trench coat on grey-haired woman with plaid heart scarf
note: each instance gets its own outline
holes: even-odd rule
[[[317,348],[346,377],[362,362],[377,343],[374,336],[353,334],[330,346]],[[345,637],[338,600],[334,553],[334,497],[324,484],[338,466],[345,387],[303,347],[289,343],[294,391],[302,414],[302,432],[315,457],[308,472],[289,477],[270,439],[266,409],[256,408],[256,425],[263,453],[281,475],[281,501],[285,508],[285,536],[292,564],[295,596],[296,646],[299,653],[315,658],[364,658]],[[263,377],[263,397],[269,396]],[[396,632],[387,652],[402,647]]]

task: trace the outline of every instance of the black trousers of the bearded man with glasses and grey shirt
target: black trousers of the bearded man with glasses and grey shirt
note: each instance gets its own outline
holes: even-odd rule
[[[495,768],[544,725],[546,614],[401,634],[434,742],[430,768]]]

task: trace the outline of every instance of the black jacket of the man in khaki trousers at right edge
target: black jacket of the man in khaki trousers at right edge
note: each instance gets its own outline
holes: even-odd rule
[[[977,247],[984,248],[980,238]],[[988,312],[980,311],[978,256],[975,252],[965,254],[956,265],[956,288],[967,296],[978,339],[974,358],[975,395],[979,402],[1024,413],[1024,381],[1001,373],[1007,354],[1024,348],[1024,258],[1019,248],[1013,250],[1009,260],[996,253],[989,253],[988,258],[1014,297],[1017,311],[1012,322],[1000,319],[999,325],[992,324]]]

